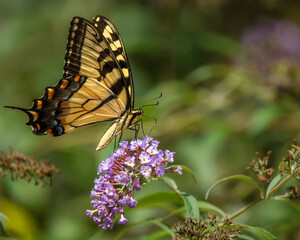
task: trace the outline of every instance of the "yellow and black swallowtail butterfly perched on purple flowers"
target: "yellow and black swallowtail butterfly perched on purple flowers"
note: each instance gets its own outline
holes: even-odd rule
[[[96,150],[134,127],[142,109],[134,109],[132,73],[124,44],[105,17],[92,22],[71,21],[63,78],[47,87],[31,108],[6,106],[25,112],[36,135],[61,136],[79,127],[112,121]]]

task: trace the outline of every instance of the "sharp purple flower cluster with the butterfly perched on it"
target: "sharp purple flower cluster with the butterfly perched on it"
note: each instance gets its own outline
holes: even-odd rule
[[[134,191],[166,173],[182,174],[180,166],[177,169],[167,167],[174,161],[175,152],[158,149],[159,141],[151,137],[123,141],[120,148],[101,162],[95,179],[95,186],[90,197],[93,210],[86,214],[103,229],[113,228],[115,214],[120,214],[119,224],[126,224],[124,207],[134,208],[137,201]]]

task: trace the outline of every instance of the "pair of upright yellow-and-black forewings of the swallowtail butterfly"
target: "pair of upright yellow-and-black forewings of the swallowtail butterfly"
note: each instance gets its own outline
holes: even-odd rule
[[[132,109],[133,86],[125,48],[117,30],[108,23],[107,19],[100,16],[94,18],[94,24],[83,18],[73,18],[69,29],[64,76],[78,74],[96,78],[110,88],[116,97],[125,88],[127,96],[122,100],[127,109]],[[107,31],[108,28],[110,32]],[[117,48],[115,44],[120,47]]]

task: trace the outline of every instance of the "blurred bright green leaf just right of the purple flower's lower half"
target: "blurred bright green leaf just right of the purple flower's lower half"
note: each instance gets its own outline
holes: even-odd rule
[[[158,205],[161,203],[173,202],[182,204],[182,199],[174,192],[158,192],[149,194],[141,199],[138,199],[137,208]]]

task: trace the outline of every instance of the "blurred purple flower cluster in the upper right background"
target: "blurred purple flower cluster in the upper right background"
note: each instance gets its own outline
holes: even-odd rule
[[[300,63],[300,28],[293,22],[264,18],[246,30],[242,47],[245,65],[254,64],[266,71],[279,60]]]

